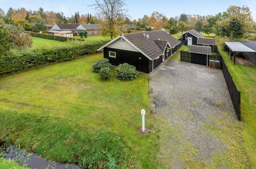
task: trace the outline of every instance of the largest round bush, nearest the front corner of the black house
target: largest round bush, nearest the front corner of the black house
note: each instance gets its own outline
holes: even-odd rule
[[[117,66],[117,68],[115,68],[115,74],[120,80],[132,80],[139,76],[139,72],[136,71],[136,68],[126,63]]]

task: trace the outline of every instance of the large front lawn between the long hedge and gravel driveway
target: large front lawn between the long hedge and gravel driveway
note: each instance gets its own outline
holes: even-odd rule
[[[148,113],[148,76],[140,75],[132,81],[120,81],[114,76],[112,68],[111,80],[101,81],[99,75],[92,72],[92,65],[102,57],[103,54],[92,55],[1,78],[0,116],[1,113],[3,114],[2,123],[0,120],[1,136],[7,135],[11,142],[21,143],[22,148],[30,151],[37,150],[38,146],[40,149],[38,151],[42,152],[40,155],[49,159],[69,162],[65,160],[68,156],[78,158],[73,157],[73,154],[78,154],[76,152],[78,147],[70,155],[63,152],[64,145],[51,147],[64,143],[62,139],[56,139],[60,136],[55,130],[65,133],[67,140],[74,143],[72,146],[76,145],[75,142],[79,143],[78,146],[81,141],[77,138],[76,141],[71,133],[69,136],[71,129],[76,131],[75,135],[79,134],[79,130],[81,130],[79,135],[83,135],[86,132],[84,126],[107,129],[122,138],[129,156],[127,160],[131,166],[155,167],[158,146],[157,134],[153,133],[154,116]],[[141,136],[137,133],[137,129],[141,126],[141,109],[146,110],[146,127],[152,131],[150,135]],[[6,117],[7,121],[3,122],[8,114],[10,114],[10,119]],[[23,125],[19,124],[22,122],[18,122],[19,120],[15,117],[22,117],[23,114],[26,117],[25,120],[29,122],[26,124],[26,121],[23,121],[25,126],[31,125],[32,128],[38,123],[40,124],[38,128],[42,130],[27,129],[29,126],[26,129],[19,129]],[[29,119],[29,114],[33,119]],[[40,119],[41,115],[44,119],[42,123],[36,120]],[[45,120],[46,118],[50,120]],[[60,118],[60,124],[57,124],[58,118]],[[51,124],[49,125],[51,128],[53,124],[61,126],[65,120],[67,126],[71,126],[71,129],[65,127],[66,132],[61,128],[53,128],[54,132],[45,129],[48,123]],[[8,122],[10,129],[8,126],[5,127]],[[5,133],[4,129],[9,133]],[[54,135],[48,137],[52,132]],[[95,142],[96,145],[97,142]],[[67,157],[58,157],[64,156],[63,154]]]

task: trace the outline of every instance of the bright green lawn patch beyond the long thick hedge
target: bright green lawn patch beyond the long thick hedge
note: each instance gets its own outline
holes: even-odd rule
[[[33,40],[32,49],[58,46],[65,43],[64,41],[50,40],[50,39],[44,39],[40,37],[32,37],[32,40]]]

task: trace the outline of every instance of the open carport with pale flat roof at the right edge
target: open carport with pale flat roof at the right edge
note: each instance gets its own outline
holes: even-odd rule
[[[251,60],[253,64],[256,65],[256,50],[252,49],[252,47],[254,47],[253,44],[256,48],[256,41],[225,42],[225,44],[229,48],[230,59],[232,59],[232,56],[234,56],[234,65],[235,56],[237,56],[239,53],[242,53],[249,60]]]

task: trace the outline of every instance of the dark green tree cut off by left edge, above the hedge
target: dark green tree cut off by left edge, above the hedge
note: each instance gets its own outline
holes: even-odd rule
[[[10,37],[8,37],[8,31],[3,29],[3,26],[0,26],[0,57],[5,51],[10,49],[9,40]]]

